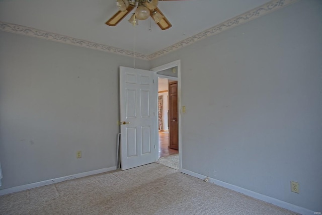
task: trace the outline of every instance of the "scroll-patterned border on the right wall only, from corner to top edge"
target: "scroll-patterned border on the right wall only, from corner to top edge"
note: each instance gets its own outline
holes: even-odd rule
[[[192,37],[182,40],[172,46],[169,46],[168,48],[165,48],[163,50],[160,50],[160,51],[157,51],[153,54],[150,54],[147,56],[147,58],[148,58],[148,60],[155,59],[155,58],[160,57],[162,55],[168,54],[169,52],[172,52],[172,51],[178,50],[180,48],[183,48],[185,46],[191,45],[192,43],[197,42],[202,39],[205,39],[207,37],[214,36],[216,34],[219,34],[220,32],[223,32],[223,31],[228,30],[230,28],[244,24],[246,22],[249,22],[251,20],[254,20],[256,18],[264,16],[268,13],[271,13],[273,11],[276,11],[280,8],[283,8],[285,6],[288,6],[288,5],[298,2],[298,1],[300,1],[300,0],[273,0],[267,4],[264,4],[260,7],[258,7],[258,8],[250,10],[244,14],[236,16],[230,20],[227,20],[227,21],[219,24],[219,25],[209,28],[203,32],[200,32],[199,34],[196,34]]]

